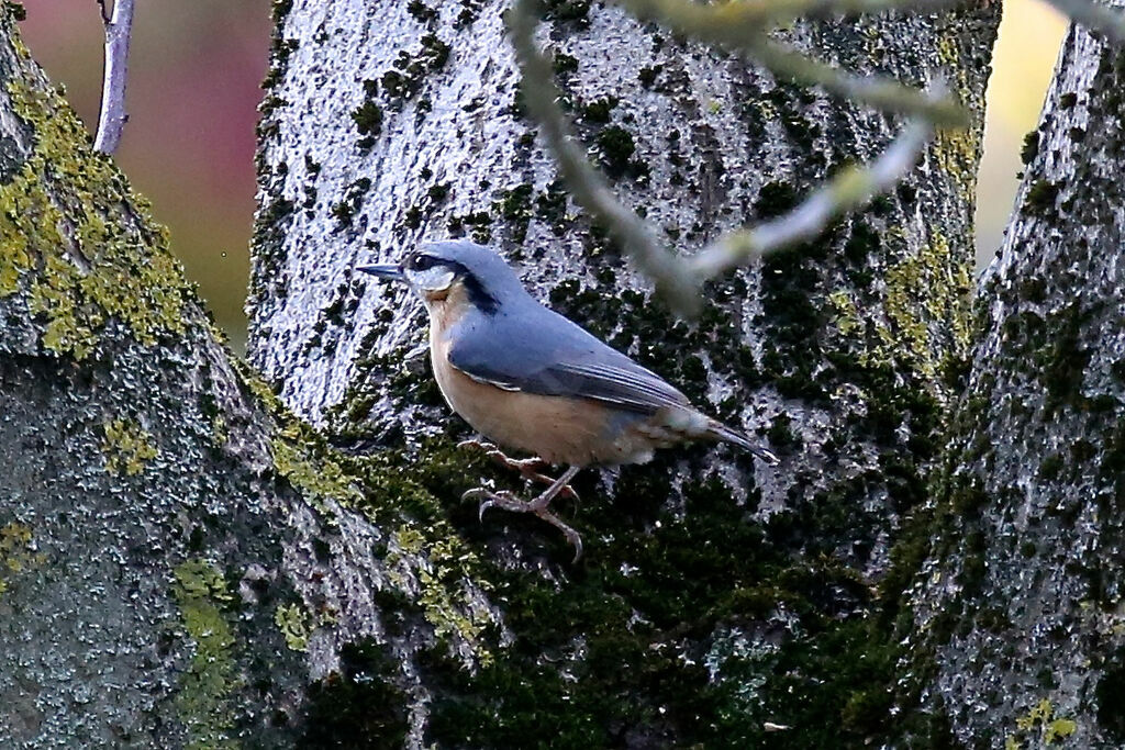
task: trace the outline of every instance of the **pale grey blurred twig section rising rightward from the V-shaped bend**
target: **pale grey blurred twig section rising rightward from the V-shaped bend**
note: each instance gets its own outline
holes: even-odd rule
[[[933,125],[925,120],[910,123],[870,166],[840,172],[784,216],[728,234],[692,259],[692,272],[700,280],[711,279],[750,259],[814,240],[832,219],[863,207],[897,184],[914,166],[933,133]]]

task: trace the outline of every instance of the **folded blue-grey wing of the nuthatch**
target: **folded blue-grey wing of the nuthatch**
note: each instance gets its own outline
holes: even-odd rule
[[[498,388],[590,398],[641,414],[688,405],[659,376],[542,307],[530,320],[511,315],[457,328],[450,364]]]

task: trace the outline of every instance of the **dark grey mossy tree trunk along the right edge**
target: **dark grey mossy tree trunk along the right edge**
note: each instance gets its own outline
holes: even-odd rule
[[[1072,28],[930,512],[910,667],[978,747],[1125,743],[1123,92],[1125,54]]]

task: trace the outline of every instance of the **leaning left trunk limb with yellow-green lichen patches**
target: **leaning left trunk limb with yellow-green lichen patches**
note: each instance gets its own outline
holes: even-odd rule
[[[489,659],[472,551],[434,517],[424,471],[333,458],[216,340],[15,12],[0,8],[0,737],[354,747],[351,721],[416,744],[418,649]]]

